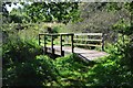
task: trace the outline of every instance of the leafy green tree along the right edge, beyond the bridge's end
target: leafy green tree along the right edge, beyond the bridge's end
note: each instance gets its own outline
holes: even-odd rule
[[[117,3],[110,4],[112,11],[119,11],[121,8]],[[133,73],[133,2],[126,2],[123,8],[130,15],[129,22],[125,19],[121,19],[113,29],[122,34],[120,42],[117,42],[116,47],[120,55],[123,56],[121,61],[122,65],[126,65]],[[126,36],[126,37],[125,37]]]

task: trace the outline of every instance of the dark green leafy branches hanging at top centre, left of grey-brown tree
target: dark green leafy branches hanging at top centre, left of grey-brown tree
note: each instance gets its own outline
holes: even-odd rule
[[[27,7],[32,22],[62,22],[78,19],[78,2],[33,2]]]

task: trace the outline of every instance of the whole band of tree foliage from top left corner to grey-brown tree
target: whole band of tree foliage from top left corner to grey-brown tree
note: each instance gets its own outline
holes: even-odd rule
[[[29,22],[62,22],[68,23],[71,21],[76,21],[80,16],[78,10],[78,2],[33,2],[27,4],[24,2],[20,3],[24,8],[13,9],[10,13],[6,8],[6,4],[12,4],[11,2],[2,3],[3,16],[9,22],[22,23],[22,20]],[[13,3],[14,4],[14,3]],[[17,4],[17,3],[16,3]],[[21,11],[20,11],[21,10]],[[7,20],[6,20],[7,21]]]

